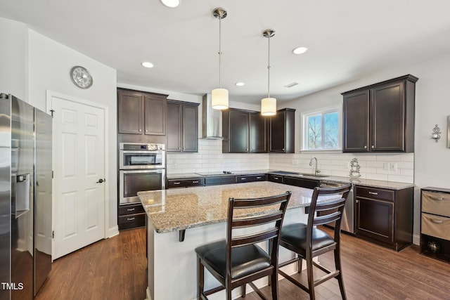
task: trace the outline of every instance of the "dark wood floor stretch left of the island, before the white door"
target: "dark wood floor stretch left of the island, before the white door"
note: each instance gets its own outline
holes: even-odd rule
[[[36,300],[143,300],[147,288],[146,230],[122,230],[53,261]]]

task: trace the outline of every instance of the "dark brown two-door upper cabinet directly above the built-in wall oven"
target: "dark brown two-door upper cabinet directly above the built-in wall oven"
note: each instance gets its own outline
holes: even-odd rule
[[[117,90],[118,131],[165,136],[167,95]]]

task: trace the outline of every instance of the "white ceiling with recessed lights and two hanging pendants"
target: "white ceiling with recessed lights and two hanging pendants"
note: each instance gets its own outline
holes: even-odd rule
[[[219,85],[217,7],[228,11],[221,78],[233,101],[266,96],[268,28],[278,100],[450,52],[449,0],[0,0],[0,16],[113,67],[119,83],[203,95]],[[297,46],[309,51],[295,56]]]

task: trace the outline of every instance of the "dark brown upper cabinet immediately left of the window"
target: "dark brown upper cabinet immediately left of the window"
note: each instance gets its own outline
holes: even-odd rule
[[[294,153],[295,150],[295,110],[277,110],[269,118],[269,152]]]

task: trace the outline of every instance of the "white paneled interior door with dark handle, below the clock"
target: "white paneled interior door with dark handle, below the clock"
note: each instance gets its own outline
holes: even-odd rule
[[[57,259],[105,237],[105,110],[63,96],[51,95],[48,102]]]

